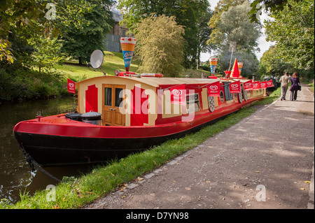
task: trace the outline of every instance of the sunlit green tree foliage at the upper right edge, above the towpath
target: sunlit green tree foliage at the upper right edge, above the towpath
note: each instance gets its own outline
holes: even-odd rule
[[[297,69],[314,68],[314,1],[289,0],[265,22],[267,41],[276,42],[276,55]]]

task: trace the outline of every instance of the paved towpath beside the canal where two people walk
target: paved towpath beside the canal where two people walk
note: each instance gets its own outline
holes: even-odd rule
[[[85,208],[314,208],[314,92],[302,85],[297,101],[258,108]]]

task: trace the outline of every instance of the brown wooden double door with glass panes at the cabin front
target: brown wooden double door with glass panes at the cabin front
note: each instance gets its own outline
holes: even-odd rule
[[[125,85],[103,85],[103,125],[125,125],[125,115],[120,113],[123,106]]]

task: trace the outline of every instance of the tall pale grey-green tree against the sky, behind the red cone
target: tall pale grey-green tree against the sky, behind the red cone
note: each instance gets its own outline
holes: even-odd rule
[[[214,30],[211,32],[209,44],[218,50],[218,71],[227,70],[231,62],[230,43],[237,42],[236,52],[233,52],[232,63],[237,58],[238,62],[243,62],[244,66],[241,75],[250,76],[258,70],[258,59],[255,51],[258,48],[258,38],[260,36],[260,24],[251,23],[248,20],[250,3],[244,1],[241,5],[233,6],[239,1],[220,1],[221,10],[216,8],[215,13],[221,15],[210,23]],[[225,6],[229,5],[229,8]],[[214,22],[216,21],[216,22]],[[231,64],[232,66],[232,64]],[[232,67],[231,67],[232,68]]]

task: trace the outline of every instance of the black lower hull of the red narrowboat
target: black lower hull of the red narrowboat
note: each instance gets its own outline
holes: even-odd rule
[[[205,125],[216,122],[211,120],[186,131],[167,136],[141,138],[85,138],[57,136],[49,134],[30,134],[13,131],[20,149],[27,159],[33,159],[42,166],[65,166],[72,164],[97,164],[127,157],[128,154],[141,152],[160,145],[167,140],[181,138],[200,130]]]

